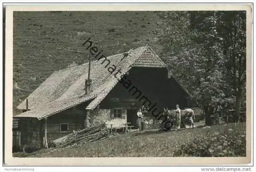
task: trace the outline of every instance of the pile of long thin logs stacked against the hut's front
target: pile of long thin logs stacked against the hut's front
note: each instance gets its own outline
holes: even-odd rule
[[[68,135],[65,140],[60,142],[60,146],[93,142],[108,137],[108,134],[109,131],[105,123],[100,123]]]

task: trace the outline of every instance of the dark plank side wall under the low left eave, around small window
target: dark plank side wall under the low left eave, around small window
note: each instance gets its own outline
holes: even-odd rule
[[[73,130],[82,129],[85,118],[84,106],[78,106],[61,113],[48,117],[47,119],[47,140],[53,141],[59,137],[72,133]],[[33,132],[33,121],[35,122],[36,131]],[[60,132],[60,123],[68,123],[68,133]],[[39,147],[42,146],[42,127],[45,124],[45,119],[37,120],[36,118],[20,118],[19,125],[21,135],[21,144],[33,144]]]

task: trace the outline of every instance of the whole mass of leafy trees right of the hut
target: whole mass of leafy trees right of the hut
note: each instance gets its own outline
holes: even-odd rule
[[[234,96],[239,112],[245,83],[245,14],[180,11],[158,15],[163,22],[159,34],[163,60],[204,109],[206,124],[210,103]]]

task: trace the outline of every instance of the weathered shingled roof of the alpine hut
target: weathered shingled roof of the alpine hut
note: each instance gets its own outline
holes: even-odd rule
[[[107,57],[110,65],[115,65],[126,73],[132,67],[166,67],[163,61],[148,46],[138,47],[124,57],[117,54]],[[118,80],[105,68],[103,59],[91,63],[92,91],[85,94],[85,80],[88,78],[88,64],[55,71],[28,97],[28,109],[14,117],[35,117],[42,119],[83,102],[92,100],[86,109],[94,109],[114,88]],[[109,66],[110,66],[109,65]],[[26,100],[17,109],[26,109]]]

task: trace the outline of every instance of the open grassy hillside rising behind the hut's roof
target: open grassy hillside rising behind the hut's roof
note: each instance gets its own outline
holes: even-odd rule
[[[87,62],[89,37],[106,56],[144,45],[161,51],[154,12],[14,12],[13,19],[14,108],[55,70]]]

